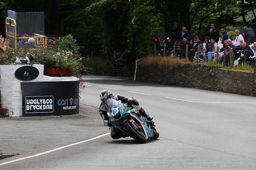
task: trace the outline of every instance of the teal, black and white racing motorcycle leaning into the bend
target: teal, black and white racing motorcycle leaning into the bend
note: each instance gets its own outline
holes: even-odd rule
[[[106,107],[111,125],[127,137],[130,136],[140,143],[146,143],[149,139],[155,140],[159,137],[155,123],[147,120],[130,105],[121,103],[121,100],[107,99]]]

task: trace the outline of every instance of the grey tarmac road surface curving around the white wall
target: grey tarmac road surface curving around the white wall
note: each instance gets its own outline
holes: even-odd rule
[[[256,168],[256,98],[116,77],[84,78],[78,115],[0,119],[0,153],[20,154],[0,160],[0,169]],[[112,140],[98,114],[99,94],[106,88],[137,99],[154,116],[159,139],[147,144]]]

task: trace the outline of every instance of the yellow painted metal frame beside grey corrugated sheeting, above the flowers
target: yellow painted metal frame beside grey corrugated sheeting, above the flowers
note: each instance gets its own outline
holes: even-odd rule
[[[14,25],[12,24],[12,21],[13,21]],[[8,25],[14,27],[14,36],[9,34]],[[5,19],[5,35],[6,35],[6,47],[10,48],[10,49],[13,49],[13,48],[9,47],[9,44],[8,44],[9,37],[14,39],[14,45],[15,45],[14,49],[15,50],[17,49],[16,48],[17,47],[17,39],[24,39],[24,37],[17,37],[16,21],[14,19],[8,18],[8,17],[6,17],[6,19]],[[45,35],[34,34],[33,37],[26,37],[26,38],[34,38],[36,47],[47,48],[47,37]],[[40,41],[39,41],[39,39],[40,39]],[[20,43],[20,48],[21,47],[22,47],[22,43]]]

